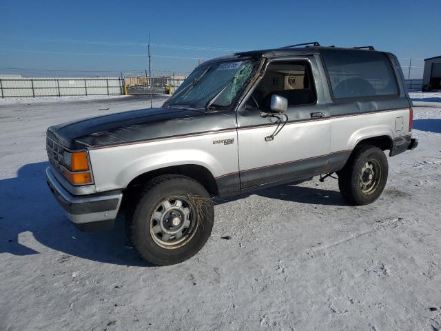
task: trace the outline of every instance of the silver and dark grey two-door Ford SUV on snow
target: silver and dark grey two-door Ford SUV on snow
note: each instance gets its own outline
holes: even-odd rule
[[[127,233],[156,265],[192,257],[214,222],[212,197],[336,172],[354,205],[387,181],[384,150],[411,138],[397,58],[318,43],[241,52],[198,66],[161,108],[48,128],[50,190],[81,230]]]

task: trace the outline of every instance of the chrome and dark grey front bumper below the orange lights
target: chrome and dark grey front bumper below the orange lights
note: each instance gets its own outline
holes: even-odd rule
[[[113,227],[123,194],[70,194],[55,178],[52,170],[46,168],[46,181],[55,199],[65,210],[68,218],[80,230],[108,230]]]

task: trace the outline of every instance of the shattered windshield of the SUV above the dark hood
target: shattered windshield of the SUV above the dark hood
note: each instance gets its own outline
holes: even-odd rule
[[[252,61],[213,63],[197,68],[167,102],[171,107],[226,108],[254,71]]]

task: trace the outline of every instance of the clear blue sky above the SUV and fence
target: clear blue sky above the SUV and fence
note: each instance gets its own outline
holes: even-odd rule
[[[422,67],[421,59],[441,54],[440,0],[0,0],[0,20],[0,73],[144,70],[148,32],[155,72],[188,72],[197,59],[304,41],[373,45],[402,58],[402,66],[413,57]],[[422,77],[422,68],[412,76]]]

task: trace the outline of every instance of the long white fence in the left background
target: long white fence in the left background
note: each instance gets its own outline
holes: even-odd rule
[[[123,94],[123,79],[119,77],[0,78],[0,90],[2,98]]]

